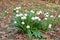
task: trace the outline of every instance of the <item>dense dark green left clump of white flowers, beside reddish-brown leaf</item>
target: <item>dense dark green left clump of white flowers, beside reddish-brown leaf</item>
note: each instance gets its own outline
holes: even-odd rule
[[[37,36],[40,37],[41,35],[39,30],[41,29],[41,19],[39,18],[39,16],[36,16],[33,10],[31,10],[30,13],[19,13],[16,11],[15,13],[17,14],[14,16],[14,25],[17,30],[23,31],[24,33],[28,34],[31,33],[32,36],[37,35],[34,33],[39,32],[39,35]]]

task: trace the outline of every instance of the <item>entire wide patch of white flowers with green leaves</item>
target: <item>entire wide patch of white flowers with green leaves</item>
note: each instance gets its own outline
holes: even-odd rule
[[[21,7],[16,7],[14,16],[14,25],[18,30],[22,30],[25,33],[28,33],[31,35],[35,35],[36,37],[40,37],[41,35],[39,30],[47,31],[50,30],[53,26],[55,26],[60,19],[60,15],[58,15],[58,18],[55,20],[55,16],[50,14],[49,12],[44,11],[34,11],[31,10],[29,13],[20,12],[19,9]],[[43,17],[41,19],[41,17]],[[30,35],[29,35],[30,36]]]

